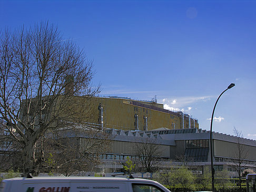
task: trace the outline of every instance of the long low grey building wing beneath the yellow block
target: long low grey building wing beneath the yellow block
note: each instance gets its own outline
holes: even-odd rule
[[[157,157],[157,168],[165,169],[171,165],[180,166],[185,163],[194,173],[210,170],[209,131],[198,128],[175,130],[159,128],[147,131],[106,129],[105,132],[110,135],[110,147],[98,154],[102,161],[99,167],[104,167],[105,173],[121,171],[127,157],[134,162],[138,161],[143,156],[138,154],[137,148],[145,143],[154,145],[152,149],[157,150],[153,153],[153,156]],[[74,140],[79,146],[77,150],[80,151],[83,150],[83,144],[88,139],[81,133],[76,135],[70,133],[66,136],[76,138]],[[239,147],[243,149],[241,157],[238,156]],[[227,170],[230,177],[238,177],[236,169],[239,161],[241,161],[242,170],[256,171],[255,151],[255,140],[213,132],[213,164],[216,171]]]

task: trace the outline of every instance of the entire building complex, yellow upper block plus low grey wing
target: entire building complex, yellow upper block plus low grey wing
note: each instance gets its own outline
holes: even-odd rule
[[[83,97],[74,96],[73,99],[85,102]],[[89,101],[92,103],[92,118],[84,120],[85,125],[76,124],[79,129],[75,132],[68,126],[63,127],[61,132],[63,139],[74,141],[77,153],[83,152],[88,144],[93,143],[93,139],[99,139],[92,139],[86,134],[87,125],[108,135],[109,148],[91,151],[102,162],[94,167],[95,171],[103,171],[104,167],[105,173],[118,172],[123,170],[127,157],[133,161],[145,159],[147,155],[137,150],[145,144],[154,150],[151,155],[157,159],[158,168],[168,168],[170,162],[175,166],[186,162],[196,173],[203,173],[210,168],[210,132],[200,129],[198,120],[189,114],[166,110],[156,99],[141,101],[120,97],[92,97]],[[87,105],[80,107],[84,106]],[[80,108],[74,110],[80,111]],[[83,117],[83,113],[79,114]],[[240,147],[244,155],[239,157]],[[213,162],[217,171],[227,170],[231,177],[238,177],[235,170],[239,162],[242,169],[256,171],[255,151],[255,140],[213,133]]]

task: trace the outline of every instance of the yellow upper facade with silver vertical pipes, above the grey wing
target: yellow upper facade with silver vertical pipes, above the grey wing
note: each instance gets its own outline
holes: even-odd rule
[[[98,118],[94,122],[102,127],[122,130],[152,130],[199,128],[197,119],[182,112],[171,112],[163,104],[121,97],[93,97]]]

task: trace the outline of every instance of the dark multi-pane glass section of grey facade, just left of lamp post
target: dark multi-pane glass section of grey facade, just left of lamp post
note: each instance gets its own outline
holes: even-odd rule
[[[209,152],[208,139],[186,140],[185,158],[188,161],[207,161]]]

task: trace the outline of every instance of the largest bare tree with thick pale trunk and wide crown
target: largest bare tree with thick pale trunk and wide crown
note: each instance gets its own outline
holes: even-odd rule
[[[22,147],[24,173],[38,173],[44,154],[35,149],[47,130],[87,121],[85,100],[99,92],[93,74],[83,51],[48,22],[0,34],[0,118]]]

